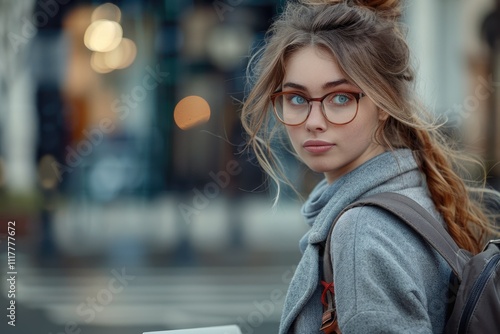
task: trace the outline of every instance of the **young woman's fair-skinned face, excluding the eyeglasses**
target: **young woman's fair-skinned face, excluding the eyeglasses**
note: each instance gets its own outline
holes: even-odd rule
[[[282,90],[298,91],[308,98],[332,92],[361,92],[345,79],[333,56],[310,46],[296,51],[285,63]],[[354,120],[335,125],[323,116],[320,102],[313,102],[307,120],[301,125],[287,125],[286,129],[300,159],[313,171],[324,173],[332,183],[384,152],[384,148],[373,141],[373,135],[386,117],[386,113],[364,96],[359,100]]]

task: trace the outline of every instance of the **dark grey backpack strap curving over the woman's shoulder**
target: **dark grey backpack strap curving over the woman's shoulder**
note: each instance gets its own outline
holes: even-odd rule
[[[468,255],[458,247],[443,225],[411,198],[397,193],[380,193],[352,203],[335,218],[324,245],[323,275],[327,282],[333,282],[333,262],[330,255],[333,227],[344,212],[364,205],[383,208],[399,217],[446,260],[459,281],[462,281],[462,268]]]

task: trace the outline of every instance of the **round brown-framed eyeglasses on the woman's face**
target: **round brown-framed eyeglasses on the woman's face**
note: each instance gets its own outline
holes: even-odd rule
[[[277,92],[271,94],[274,113],[285,125],[300,125],[311,114],[313,102],[321,103],[321,111],[328,122],[344,125],[358,114],[359,100],[364,93],[328,93],[323,97],[309,98],[301,92]]]

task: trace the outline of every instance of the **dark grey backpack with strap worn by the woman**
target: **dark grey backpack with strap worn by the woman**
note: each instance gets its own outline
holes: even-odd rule
[[[458,290],[455,289],[456,298],[446,322],[446,334],[500,333],[500,240],[491,240],[482,252],[472,255],[460,249],[444,226],[417,202],[396,193],[376,194],[354,202],[346,207],[332,224],[323,245],[325,281],[322,284],[325,289],[322,296],[324,313],[321,331],[340,333],[336,321],[332,288],[333,266],[329,247],[333,227],[345,211],[364,205],[377,206],[396,215],[424,238],[450,265],[458,283]]]

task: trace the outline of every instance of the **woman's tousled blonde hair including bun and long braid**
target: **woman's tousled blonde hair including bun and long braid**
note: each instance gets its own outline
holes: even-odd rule
[[[437,210],[457,244],[472,253],[494,233],[486,216],[484,187],[471,188],[459,176],[459,156],[432,117],[418,102],[410,51],[398,22],[399,0],[304,0],[289,2],[272,24],[266,42],[252,58],[252,89],[242,109],[242,124],[264,171],[278,184],[287,182],[271,141],[280,138],[269,96],[279,89],[286,60],[295,51],[315,46],[334,56],[346,77],[389,117],[374,140],[388,150],[409,148],[426,176]]]

